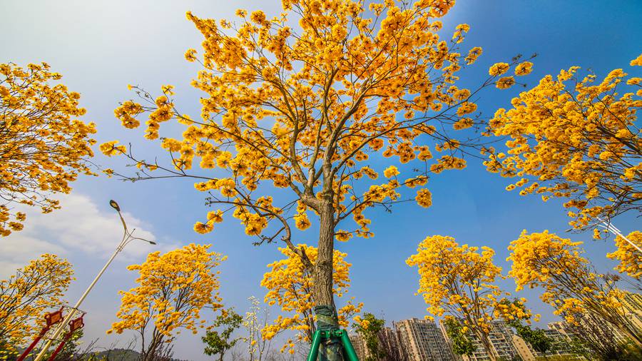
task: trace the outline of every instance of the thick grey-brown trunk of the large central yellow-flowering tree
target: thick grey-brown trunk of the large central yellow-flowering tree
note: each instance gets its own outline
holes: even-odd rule
[[[312,298],[315,302],[317,330],[338,330],[337,309],[332,295],[332,255],[335,250],[335,209],[331,192],[321,202],[319,244],[313,274]],[[330,193],[330,195],[328,194]],[[342,361],[340,340],[325,340],[319,349],[320,361]]]

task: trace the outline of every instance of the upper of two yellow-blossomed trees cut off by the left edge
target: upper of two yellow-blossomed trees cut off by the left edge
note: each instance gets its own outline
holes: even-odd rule
[[[47,63],[0,63],[0,236],[22,230],[25,204],[44,213],[59,208],[52,193],[69,193],[79,173],[92,174],[93,123],[76,117],[80,94],[68,91]]]

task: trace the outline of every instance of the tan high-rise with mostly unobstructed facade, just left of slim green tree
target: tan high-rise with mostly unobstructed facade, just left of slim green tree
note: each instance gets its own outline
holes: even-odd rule
[[[411,318],[394,322],[399,343],[411,361],[452,361],[444,334],[434,321]]]

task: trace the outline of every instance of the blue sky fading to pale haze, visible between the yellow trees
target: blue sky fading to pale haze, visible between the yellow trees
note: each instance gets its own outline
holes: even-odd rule
[[[83,118],[95,121],[98,143],[118,139],[132,141],[141,152],[157,150],[141,140],[140,133],[127,132],[113,118],[118,101],[131,96],[126,86],[138,84],[155,90],[163,84],[176,86],[177,104],[185,113],[197,116],[200,93],[189,82],[198,64],[183,59],[188,48],[199,48],[201,36],[185,19],[185,11],[216,19],[233,17],[235,9],[263,9],[268,15],[280,11],[277,1],[3,1],[0,9],[2,44],[0,62],[24,65],[46,61],[63,74],[63,83],[82,94],[81,105],[88,112]],[[467,71],[466,81],[476,83],[496,61],[509,61],[516,54],[537,53],[534,73],[526,79],[532,86],[542,76],[561,68],[582,66],[603,76],[613,68],[632,72],[628,62],[642,48],[640,1],[458,1],[444,18],[445,27],[471,25],[464,42],[466,49],[481,46],[484,54],[477,66]],[[639,70],[637,70],[639,73]],[[509,106],[519,89],[490,90],[482,93],[480,110],[491,116],[498,107]],[[160,152],[156,152],[160,153]],[[123,168],[124,163],[98,155],[103,166]],[[384,164],[375,164],[382,168]],[[357,238],[337,247],[346,251],[353,264],[350,295],[365,302],[365,310],[384,314],[387,320],[423,317],[425,305],[417,289],[416,270],[404,260],[414,253],[427,235],[452,235],[460,243],[488,245],[496,250],[496,262],[507,270],[506,246],[522,229],[544,229],[564,233],[568,219],[559,202],[542,203],[539,198],[507,193],[508,181],[487,173],[480,163],[470,160],[464,171],[444,172],[431,179],[433,205],[429,209],[414,204],[394,207],[393,213],[371,212],[374,238]],[[213,249],[229,256],[221,267],[221,295],[238,310],[248,307],[246,298],[263,298],[259,282],[278,256],[275,246],[256,248],[238,225],[229,220],[208,235],[198,235],[192,227],[207,208],[203,195],[188,180],[123,183],[106,177],[82,177],[71,196],[63,199],[63,210],[51,215],[31,211],[26,229],[0,240],[0,275],[12,273],[26,260],[42,252],[54,251],[75,265],[77,282],[68,296],[75,300],[101,268],[118,240],[118,219],[108,207],[116,199],[127,218],[159,249],[197,242],[213,243]],[[616,219],[623,232],[638,228],[633,215]],[[301,241],[314,240],[314,228],[299,235]],[[588,234],[568,234],[586,240],[587,255],[600,270],[613,263],[605,254],[613,250],[611,240],[592,241]],[[140,263],[146,245],[136,245],[113,264],[87,298],[83,308],[88,338],[101,337],[100,345],[117,340],[105,330],[115,320],[118,290],[133,285],[135,275],[125,266]],[[514,285],[505,287],[514,290]],[[540,312],[542,322],[555,320],[535,293],[523,293],[529,305]],[[126,338],[126,337],[123,337]],[[198,337],[181,336],[175,355],[205,360]]]

